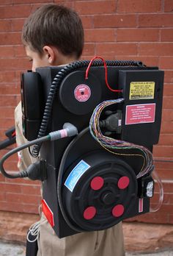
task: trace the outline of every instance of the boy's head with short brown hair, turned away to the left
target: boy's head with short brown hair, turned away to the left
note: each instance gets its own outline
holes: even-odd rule
[[[46,4],[26,19],[22,40],[34,70],[40,65],[78,60],[84,47],[84,30],[75,11]]]

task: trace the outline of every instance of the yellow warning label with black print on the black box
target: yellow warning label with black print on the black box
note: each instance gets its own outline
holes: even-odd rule
[[[130,82],[129,99],[154,99],[155,82]]]

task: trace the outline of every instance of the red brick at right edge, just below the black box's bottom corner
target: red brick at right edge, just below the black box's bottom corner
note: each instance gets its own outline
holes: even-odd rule
[[[153,149],[154,157],[172,157],[173,146],[155,146]]]

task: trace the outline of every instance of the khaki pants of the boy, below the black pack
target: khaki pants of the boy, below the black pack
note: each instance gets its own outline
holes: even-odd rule
[[[40,226],[37,256],[124,255],[122,223],[108,230],[83,232],[61,239],[48,221]]]

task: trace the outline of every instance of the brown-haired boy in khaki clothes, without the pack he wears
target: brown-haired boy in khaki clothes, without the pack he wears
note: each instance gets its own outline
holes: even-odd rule
[[[65,65],[78,60],[84,46],[84,31],[78,15],[67,7],[47,4],[36,10],[23,26],[22,40],[32,71],[48,65]],[[15,110],[16,141],[26,142],[21,128],[21,104]],[[34,162],[26,150],[18,167],[22,170]],[[45,217],[42,217],[42,220]],[[122,226],[108,230],[83,232],[59,239],[48,221],[42,221],[37,256],[122,256]],[[34,256],[34,255],[33,255]]]

